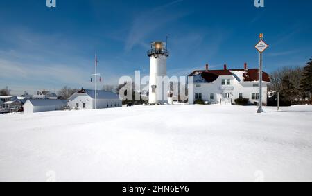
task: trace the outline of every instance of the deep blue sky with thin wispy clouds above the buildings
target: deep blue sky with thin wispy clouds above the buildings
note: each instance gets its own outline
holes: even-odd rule
[[[102,84],[135,70],[148,75],[146,51],[170,35],[168,75],[194,69],[256,68],[259,33],[270,45],[264,69],[304,66],[312,57],[311,0],[0,1],[0,88],[12,93],[91,88],[98,54]]]

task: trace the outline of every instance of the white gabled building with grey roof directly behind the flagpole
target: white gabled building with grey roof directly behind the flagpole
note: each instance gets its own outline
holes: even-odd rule
[[[69,107],[95,109],[95,91],[81,89],[69,98]],[[96,108],[122,107],[119,95],[110,91],[96,91]]]

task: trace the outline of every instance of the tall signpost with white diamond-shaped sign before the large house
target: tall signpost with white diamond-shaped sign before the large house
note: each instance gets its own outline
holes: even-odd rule
[[[261,113],[263,112],[262,109],[262,75],[263,75],[263,71],[262,71],[262,53],[264,51],[266,51],[266,48],[268,48],[268,44],[266,44],[266,42],[263,41],[263,33],[260,33],[260,41],[258,42],[258,44],[256,45],[256,49],[257,51],[259,51],[259,108],[257,113]]]

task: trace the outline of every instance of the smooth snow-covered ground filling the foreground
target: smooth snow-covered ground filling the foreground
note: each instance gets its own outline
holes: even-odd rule
[[[0,115],[0,181],[312,181],[312,107]]]

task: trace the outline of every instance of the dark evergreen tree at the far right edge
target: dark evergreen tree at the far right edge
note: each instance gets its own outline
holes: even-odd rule
[[[304,66],[304,73],[300,82],[300,91],[303,94],[303,99],[310,98],[312,94],[312,59]]]

